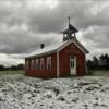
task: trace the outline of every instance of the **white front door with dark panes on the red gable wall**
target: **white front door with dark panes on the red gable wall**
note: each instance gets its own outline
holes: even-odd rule
[[[76,75],[76,57],[70,57],[71,75]]]

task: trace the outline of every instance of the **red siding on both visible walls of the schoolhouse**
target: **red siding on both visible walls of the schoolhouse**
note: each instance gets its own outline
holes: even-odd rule
[[[85,53],[72,43],[69,46],[64,47],[59,52],[59,77],[70,76],[70,57],[71,56],[76,57],[76,75],[84,75],[86,73]],[[51,57],[51,70],[47,70],[47,57]],[[33,66],[31,65],[33,58],[26,59],[25,63],[27,60],[29,60],[28,62],[29,68],[34,68],[34,69],[26,69],[25,74],[29,76],[34,76],[34,77],[41,77],[41,78],[57,77],[57,53],[55,52],[51,55],[34,58],[34,60],[38,59],[39,68],[40,68],[41,58],[44,58],[43,70],[35,69],[35,61],[34,61]]]

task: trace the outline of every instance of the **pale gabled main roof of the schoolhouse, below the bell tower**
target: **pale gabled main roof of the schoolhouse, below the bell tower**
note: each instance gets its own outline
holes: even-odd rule
[[[81,51],[83,51],[84,53],[88,53],[88,51],[86,50],[86,48],[84,48],[84,46],[82,44],[80,44],[80,41],[77,39],[72,38],[70,40],[62,41],[62,43],[56,44],[53,46],[45,47],[43,49],[41,48],[37,49],[34,52],[29,53],[26,57],[26,59],[35,58],[35,57],[40,57],[40,56],[44,56],[44,55],[50,55],[50,53],[60,51],[61,49],[63,49],[64,47],[66,47],[71,43],[74,43],[81,49]]]

